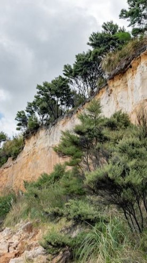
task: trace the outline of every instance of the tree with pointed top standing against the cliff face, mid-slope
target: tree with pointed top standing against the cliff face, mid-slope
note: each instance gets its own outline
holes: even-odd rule
[[[91,171],[100,165],[102,158],[107,158],[103,143],[104,119],[100,116],[101,106],[97,100],[92,100],[87,111],[79,115],[81,124],[74,131],[65,131],[55,151],[62,156],[69,156],[68,165],[78,166],[84,171]]]

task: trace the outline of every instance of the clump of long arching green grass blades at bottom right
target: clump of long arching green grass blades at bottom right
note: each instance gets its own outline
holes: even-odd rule
[[[80,247],[74,251],[78,262],[146,262],[135,249],[132,233],[119,218],[92,227]],[[134,246],[134,248],[133,248]]]

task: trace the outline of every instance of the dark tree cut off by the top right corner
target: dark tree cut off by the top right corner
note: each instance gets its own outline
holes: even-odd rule
[[[137,35],[147,30],[147,1],[127,0],[129,10],[122,9],[119,17],[127,19],[133,26],[132,34]]]

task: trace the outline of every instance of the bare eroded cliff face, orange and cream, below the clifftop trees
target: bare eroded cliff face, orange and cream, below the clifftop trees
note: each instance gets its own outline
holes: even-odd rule
[[[110,79],[95,98],[100,99],[105,116],[110,117],[121,109],[135,122],[136,112],[147,106],[147,51],[134,59],[126,72]],[[65,158],[59,157],[53,147],[59,143],[62,131],[72,129],[79,122],[77,116],[87,104],[27,139],[17,159],[9,159],[0,168],[0,190],[23,189],[24,180],[36,180],[41,173],[52,172],[55,164],[63,163]]]

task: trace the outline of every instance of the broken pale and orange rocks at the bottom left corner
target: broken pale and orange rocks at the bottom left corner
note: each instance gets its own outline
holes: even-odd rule
[[[5,228],[0,232],[0,262],[48,262],[45,250],[39,244],[41,230],[32,223],[20,223],[16,230]]]

